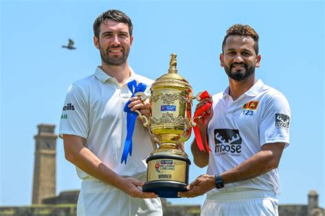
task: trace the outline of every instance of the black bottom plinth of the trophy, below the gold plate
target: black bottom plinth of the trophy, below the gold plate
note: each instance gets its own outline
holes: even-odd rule
[[[186,184],[182,182],[164,181],[164,182],[147,182],[143,185],[143,192],[154,192],[158,197],[163,198],[180,198],[179,191],[187,191]]]

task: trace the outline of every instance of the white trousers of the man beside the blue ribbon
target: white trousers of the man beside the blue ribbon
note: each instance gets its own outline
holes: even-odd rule
[[[78,216],[162,216],[159,198],[134,198],[123,191],[95,178],[82,180],[77,202]]]

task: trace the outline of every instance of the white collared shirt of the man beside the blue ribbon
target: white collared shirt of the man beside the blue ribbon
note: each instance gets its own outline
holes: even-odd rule
[[[148,86],[154,82],[137,75],[131,68],[130,71],[128,82],[136,80]],[[136,121],[134,128],[132,156],[128,156],[126,165],[121,164],[127,134],[127,114],[123,107],[131,96],[127,83],[121,86],[115,77],[97,67],[95,74],[69,87],[60,121],[60,137],[62,134],[81,136],[86,139],[86,147],[119,176],[140,176],[147,171],[145,159],[154,150],[140,121]],[[82,179],[88,176],[79,168],[77,174]]]

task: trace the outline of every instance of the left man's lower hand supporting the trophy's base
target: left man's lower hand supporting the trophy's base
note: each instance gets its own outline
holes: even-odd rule
[[[131,197],[136,198],[156,198],[158,195],[152,192],[143,192],[139,187],[142,187],[145,182],[137,180],[135,178],[122,178],[119,182],[119,189],[128,193]]]

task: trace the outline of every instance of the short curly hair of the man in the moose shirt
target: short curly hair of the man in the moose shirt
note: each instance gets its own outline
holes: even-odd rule
[[[224,52],[224,47],[226,45],[226,40],[230,35],[238,35],[243,37],[251,37],[254,40],[254,51],[256,55],[258,55],[258,34],[255,30],[250,27],[250,25],[241,25],[234,24],[232,25],[226,32],[226,36],[224,37],[224,41],[222,42],[222,52]]]

